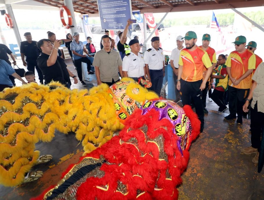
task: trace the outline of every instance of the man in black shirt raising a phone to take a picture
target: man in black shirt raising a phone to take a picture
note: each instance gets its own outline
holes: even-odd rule
[[[41,55],[37,59],[37,64],[41,69],[44,79],[47,83],[51,81],[59,81],[70,89],[70,76],[74,79],[74,83],[78,83],[76,76],[67,69],[64,59],[57,55],[60,46],[60,40],[53,43],[49,39],[41,39],[37,46],[41,50]]]

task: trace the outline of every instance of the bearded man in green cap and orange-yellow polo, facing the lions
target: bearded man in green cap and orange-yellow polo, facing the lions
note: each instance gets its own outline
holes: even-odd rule
[[[193,31],[185,34],[186,48],[180,52],[177,89],[181,91],[182,105],[194,103],[196,114],[201,121],[200,132],[204,127],[204,111],[201,92],[205,89],[213,67],[205,50],[196,46],[197,35]],[[207,68],[205,79],[202,80],[204,66]]]

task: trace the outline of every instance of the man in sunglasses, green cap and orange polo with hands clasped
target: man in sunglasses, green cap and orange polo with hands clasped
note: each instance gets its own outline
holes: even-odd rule
[[[256,68],[256,56],[253,52],[247,50],[246,38],[244,36],[236,37],[233,42],[235,51],[232,51],[226,61],[229,96],[229,112],[225,120],[236,119],[236,123],[242,124],[242,107],[249,93],[251,73]]]

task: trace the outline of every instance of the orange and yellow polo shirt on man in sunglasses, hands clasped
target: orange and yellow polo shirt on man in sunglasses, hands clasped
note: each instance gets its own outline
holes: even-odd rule
[[[253,52],[245,50],[243,53],[232,51],[225,63],[227,67],[231,68],[231,75],[234,79],[239,79],[247,70],[256,68],[256,56]],[[243,79],[237,86],[232,84],[229,79],[228,85],[238,89],[249,89],[250,88],[251,75]]]

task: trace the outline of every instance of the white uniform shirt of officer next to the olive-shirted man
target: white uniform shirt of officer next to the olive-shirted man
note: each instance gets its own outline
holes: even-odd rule
[[[126,71],[129,77],[139,78],[144,76],[144,56],[142,53],[135,55],[133,52],[126,54],[123,58],[122,70]]]

